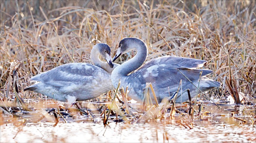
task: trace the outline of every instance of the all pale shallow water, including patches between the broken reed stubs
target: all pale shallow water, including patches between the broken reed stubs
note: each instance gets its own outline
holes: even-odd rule
[[[27,119],[38,119],[42,115],[41,110],[26,115],[19,113],[20,116],[16,118],[5,116],[4,119],[10,121],[0,125],[0,142],[256,142],[255,119],[254,123],[252,121],[255,105],[223,104],[221,109],[212,104],[203,105],[203,120],[194,119],[193,128],[189,129],[177,124],[178,119],[187,118],[177,113],[170,122],[167,118],[151,123],[129,124],[114,122],[111,119],[109,125],[105,127],[96,110],[104,104],[82,104],[82,108],[91,109],[94,120],[89,115],[82,115],[77,118],[67,118],[67,123],[60,120],[61,122],[56,126],[55,122],[49,122],[50,119],[46,121],[45,118],[39,123],[28,121],[26,125],[19,124]],[[31,105],[35,108],[36,105],[43,106],[39,103],[31,103]],[[45,104],[44,109],[52,106],[54,107],[55,104]],[[139,104],[132,106],[138,109]],[[183,109],[181,108],[181,111]],[[166,116],[169,114],[170,111],[167,111]],[[235,119],[233,116],[247,122]],[[54,121],[53,116],[48,118],[53,118]]]

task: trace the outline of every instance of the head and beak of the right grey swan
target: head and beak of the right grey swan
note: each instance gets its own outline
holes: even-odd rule
[[[115,54],[114,59],[112,62],[114,62],[118,57],[120,57],[122,54],[129,52],[132,49],[135,49],[136,47],[139,47],[140,45],[145,45],[145,43],[140,40],[139,38],[123,38],[119,42],[119,46],[117,49],[117,53]]]

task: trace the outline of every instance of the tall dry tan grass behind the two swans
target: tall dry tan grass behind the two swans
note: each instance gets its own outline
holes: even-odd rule
[[[232,94],[232,89],[237,88],[245,95],[256,96],[255,1],[1,0],[0,3],[1,98],[18,62],[21,62],[17,80],[20,95],[34,98],[38,94],[22,91],[29,86],[30,77],[65,63],[91,63],[90,52],[96,43],[107,43],[114,55],[124,37],[141,38],[149,49],[147,60],[164,55],[207,60],[204,68],[215,71],[211,78],[223,83],[220,95]],[[118,62],[134,55],[135,51],[123,55]]]

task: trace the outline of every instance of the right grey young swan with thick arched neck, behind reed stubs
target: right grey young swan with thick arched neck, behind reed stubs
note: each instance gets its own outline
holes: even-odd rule
[[[112,71],[111,80],[114,87],[117,87],[119,80],[121,81],[120,87],[128,86],[130,92],[127,96],[134,100],[141,102],[146,83],[151,83],[158,101],[161,102],[162,99],[170,97],[177,91],[180,80],[182,80],[182,89],[189,89],[191,98],[193,98],[197,93],[197,87],[194,85],[198,85],[200,71],[202,71],[199,84],[201,91],[221,86],[220,82],[206,77],[206,75],[213,72],[212,70],[196,69],[202,67],[206,60],[162,56],[152,59],[143,65],[147,58],[148,49],[146,44],[139,38],[124,38],[121,40],[112,62],[120,55],[133,49],[137,50],[137,54],[132,59],[117,66]],[[176,103],[185,102],[186,100],[188,100],[187,92],[177,98]]]

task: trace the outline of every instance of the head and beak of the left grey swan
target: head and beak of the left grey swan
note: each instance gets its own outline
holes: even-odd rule
[[[113,65],[112,60],[111,60],[111,49],[108,46],[108,44],[106,44],[106,43],[97,43],[94,47],[96,47],[98,49],[98,51],[100,52],[100,55],[105,58],[108,65],[111,68],[113,68],[114,65]]]

